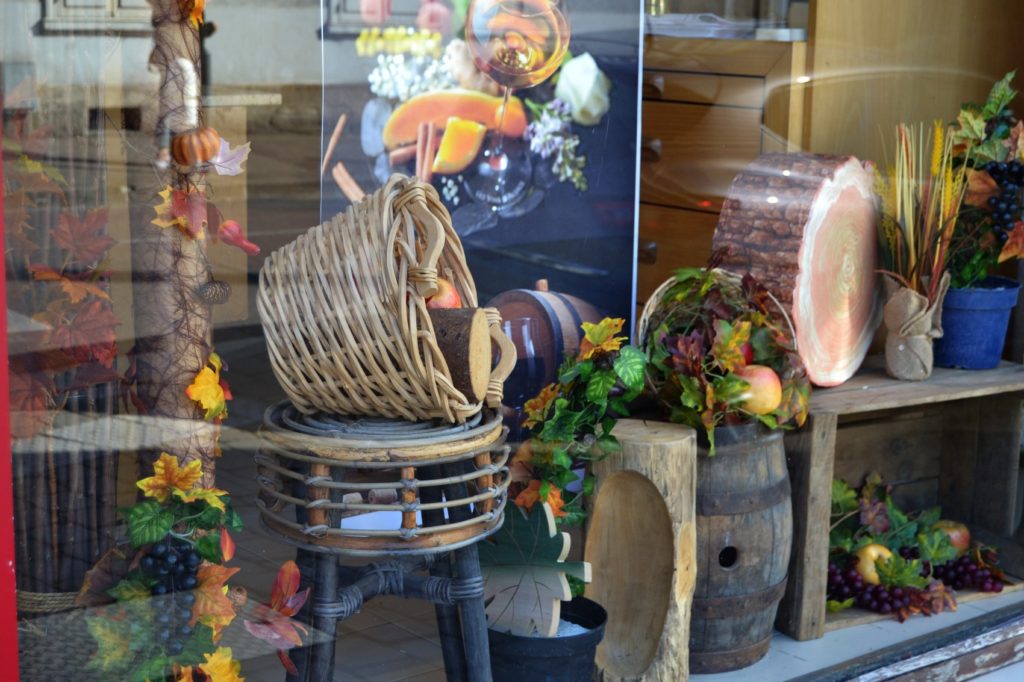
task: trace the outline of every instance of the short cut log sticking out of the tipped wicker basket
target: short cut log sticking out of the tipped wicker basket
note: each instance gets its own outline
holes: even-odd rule
[[[482,308],[432,308],[437,347],[452,383],[471,400],[482,400],[490,380],[490,330]]]

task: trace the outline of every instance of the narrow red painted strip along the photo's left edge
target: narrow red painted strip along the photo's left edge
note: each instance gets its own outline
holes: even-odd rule
[[[0,102],[3,97],[0,96]],[[0,237],[4,233],[3,129],[0,128]],[[7,272],[0,258],[0,301],[7,307]],[[14,598],[14,488],[10,467],[10,392],[7,384],[7,314],[0,314],[0,680],[17,680],[17,605]],[[13,649],[13,650],[12,650]]]

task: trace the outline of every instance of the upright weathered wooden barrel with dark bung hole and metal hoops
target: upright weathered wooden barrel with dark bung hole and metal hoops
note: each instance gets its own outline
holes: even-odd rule
[[[768,652],[793,545],[781,431],[715,430],[697,457],[697,582],[690,673],[745,668]]]

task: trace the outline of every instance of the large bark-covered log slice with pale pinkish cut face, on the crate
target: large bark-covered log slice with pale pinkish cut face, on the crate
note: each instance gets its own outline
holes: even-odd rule
[[[836,386],[860,367],[879,325],[877,204],[854,157],[766,154],[736,176],[714,248],[784,306],[811,381]]]

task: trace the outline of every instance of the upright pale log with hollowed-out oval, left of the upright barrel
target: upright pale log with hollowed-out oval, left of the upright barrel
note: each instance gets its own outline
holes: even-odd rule
[[[696,436],[660,422],[621,420],[621,453],[594,463],[587,596],[608,611],[595,680],[676,682],[689,674],[697,577]]]

